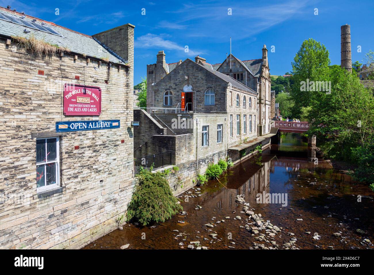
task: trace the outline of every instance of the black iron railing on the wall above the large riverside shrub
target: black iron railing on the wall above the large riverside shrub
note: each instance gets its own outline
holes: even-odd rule
[[[171,152],[159,153],[154,155],[148,155],[143,158],[134,159],[134,172],[135,175],[139,174],[140,167],[147,169],[148,171],[171,165]]]

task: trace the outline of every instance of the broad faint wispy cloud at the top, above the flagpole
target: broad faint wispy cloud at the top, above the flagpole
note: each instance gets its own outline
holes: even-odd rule
[[[281,24],[293,16],[302,15],[306,12],[308,3],[308,0],[288,0],[266,5],[260,2],[253,4],[208,1],[184,4],[182,8],[166,13],[171,14],[171,18],[178,18],[173,21],[172,26],[183,26],[184,36],[212,37],[216,40],[233,36],[236,39],[244,39]],[[228,9],[232,10],[232,15],[228,15]],[[161,21],[159,25],[162,23],[165,25],[166,21]]]

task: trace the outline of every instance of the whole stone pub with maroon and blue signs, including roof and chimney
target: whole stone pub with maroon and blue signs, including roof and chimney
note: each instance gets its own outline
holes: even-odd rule
[[[133,65],[131,24],[89,36],[0,7],[0,248],[80,248],[123,223]]]

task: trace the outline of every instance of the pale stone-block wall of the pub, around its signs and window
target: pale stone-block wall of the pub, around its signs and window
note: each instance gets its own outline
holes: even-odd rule
[[[83,56],[37,55],[0,38],[0,248],[80,248],[117,227],[134,187],[128,45],[130,70],[87,64]],[[100,86],[101,115],[65,116],[67,82]],[[120,128],[55,132],[56,121],[96,119],[119,119]],[[50,136],[60,138],[59,192],[44,196],[36,187],[36,137]]]

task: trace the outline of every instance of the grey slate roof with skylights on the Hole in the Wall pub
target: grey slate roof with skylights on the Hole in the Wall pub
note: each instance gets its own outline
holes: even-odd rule
[[[19,19],[22,14],[19,12],[13,12],[12,10],[0,7],[0,13],[10,16],[15,19]],[[105,45],[101,45],[92,36],[79,33],[77,31],[70,30],[68,28],[56,25],[52,22],[47,22],[42,19],[26,15],[24,20],[31,22],[31,20],[36,19],[36,22],[41,25],[42,22],[45,26],[51,28],[53,31],[61,34],[52,34],[49,32],[37,30],[35,28],[27,27],[25,25],[16,24],[14,22],[6,21],[0,18],[0,36],[21,36],[30,37],[34,36],[36,39],[43,39],[48,43],[56,44],[58,46],[66,47],[71,52],[76,54],[85,54],[91,57],[97,58],[109,58],[110,62],[116,64],[124,64],[127,62],[110,50],[108,50]],[[30,33],[24,33],[24,30],[30,31]],[[121,60],[122,59],[122,60]]]

